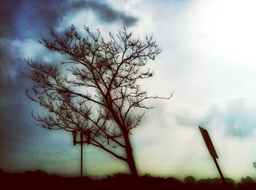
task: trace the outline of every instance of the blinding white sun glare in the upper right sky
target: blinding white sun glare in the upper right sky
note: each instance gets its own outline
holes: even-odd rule
[[[195,42],[223,56],[255,60],[256,1],[200,1],[196,6],[189,18]]]

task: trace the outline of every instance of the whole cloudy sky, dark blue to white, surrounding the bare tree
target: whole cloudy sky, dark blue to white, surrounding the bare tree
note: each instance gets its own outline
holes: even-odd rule
[[[71,24],[135,36],[153,34],[162,52],[148,63],[155,75],[141,83],[151,100],[132,132],[141,175],[183,179],[219,177],[198,125],[211,135],[222,173],[238,181],[255,176],[256,2],[253,0],[3,0],[0,1],[0,169],[79,175],[80,147],[69,132],[37,127],[26,98],[31,86],[24,59],[54,62],[39,44],[52,27]],[[127,165],[84,146],[84,172],[103,176]]]

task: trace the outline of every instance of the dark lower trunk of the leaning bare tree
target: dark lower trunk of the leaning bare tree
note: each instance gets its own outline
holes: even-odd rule
[[[129,135],[124,135],[124,140],[126,143],[126,149],[125,151],[127,152],[127,164],[129,165],[129,170],[130,173],[132,174],[132,176],[138,177],[138,171],[137,171],[137,167],[135,164],[135,159],[133,157],[133,153],[132,153],[132,146],[131,143],[129,141]]]

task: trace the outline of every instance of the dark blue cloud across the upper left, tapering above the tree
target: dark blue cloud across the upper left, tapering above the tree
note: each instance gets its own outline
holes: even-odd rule
[[[122,23],[131,26],[138,17],[127,15],[102,1],[0,1],[1,36],[40,39],[55,27],[68,12],[90,9],[105,23]],[[68,27],[68,26],[67,26]]]

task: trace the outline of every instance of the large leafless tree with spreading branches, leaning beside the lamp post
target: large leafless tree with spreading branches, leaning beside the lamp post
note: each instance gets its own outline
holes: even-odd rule
[[[109,33],[105,41],[99,30],[85,27],[82,36],[73,25],[61,37],[51,29],[50,36],[40,42],[65,60],[57,66],[26,60],[34,81],[27,95],[47,111],[32,113],[36,123],[50,130],[83,132],[88,143],[127,162],[131,174],[138,175],[129,135],[143,117],[136,108],[151,108],[144,100],[159,98],[147,96],[138,84],[153,76],[143,66],[161,52],[156,41],[152,36],[133,39],[125,28]]]

